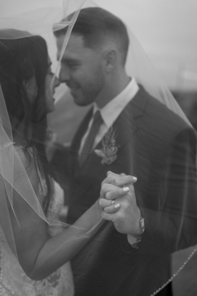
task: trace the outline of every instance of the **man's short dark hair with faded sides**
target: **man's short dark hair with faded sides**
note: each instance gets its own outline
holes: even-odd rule
[[[71,19],[69,15],[63,21]],[[55,36],[65,35],[68,27],[54,32]],[[92,48],[102,44],[104,38],[111,38],[118,44],[125,64],[129,47],[129,37],[124,23],[115,15],[100,7],[81,9],[72,30],[73,34],[82,35],[84,45]]]

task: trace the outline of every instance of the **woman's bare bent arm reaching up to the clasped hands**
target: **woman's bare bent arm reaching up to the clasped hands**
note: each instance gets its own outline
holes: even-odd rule
[[[34,162],[31,162],[31,169],[29,169],[25,155],[21,154],[20,159],[24,167],[28,168],[28,177],[33,190],[39,196],[39,178]],[[23,178],[23,176],[20,177]],[[19,223],[11,207],[9,212],[17,255],[25,273],[34,280],[46,278],[70,260],[87,242],[87,232],[101,218],[101,208],[96,202],[73,226],[65,228],[55,237],[49,237],[47,223],[16,191],[13,194]]]

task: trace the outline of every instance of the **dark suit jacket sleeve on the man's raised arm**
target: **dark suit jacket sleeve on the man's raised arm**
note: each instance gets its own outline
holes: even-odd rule
[[[153,165],[151,190],[141,208],[139,249],[172,253],[197,243],[196,133],[187,128],[166,144]],[[150,196],[151,195],[151,196]]]

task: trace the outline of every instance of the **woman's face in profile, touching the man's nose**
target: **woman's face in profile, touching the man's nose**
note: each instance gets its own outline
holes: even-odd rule
[[[45,98],[46,98],[47,113],[52,112],[55,109],[54,93],[55,93],[55,88],[59,85],[60,85],[60,82],[56,76],[54,77],[54,73],[51,70],[51,60],[48,57],[48,70],[45,78]]]

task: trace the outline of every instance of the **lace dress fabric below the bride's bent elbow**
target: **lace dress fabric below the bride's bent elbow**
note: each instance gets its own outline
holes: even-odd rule
[[[10,249],[2,248],[1,296],[73,296],[73,280],[69,262],[41,281],[31,280]]]

